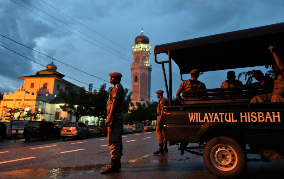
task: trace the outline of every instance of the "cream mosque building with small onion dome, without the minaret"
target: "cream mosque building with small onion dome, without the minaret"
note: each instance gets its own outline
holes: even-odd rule
[[[20,113],[15,113],[15,119],[19,115],[23,115],[31,110],[32,113],[37,111],[45,110],[48,114],[37,114],[36,117],[21,120],[69,120],[76,121],[75,116],[63,111],[60,105],[64,104],[63,99],[57,97],[60,93],[60,89],[67,92],[67,85],[70,84],[74,90],[79,90],[80,87],[66,81],[63,79],[65,75],[56,71],[57,66],[53,64],[46,65],[46,69],[37,71],[35,75],[19,77],[24,80],[24,85],[21,86],[14,93],[9,94],[4,93],[3,99],[0,103],[0,117],[1,121],[9,121],[10,117],[5,117],[7,113],[7,108],[24,108],[25,111]],[[5,110],[6,109],[6,110]],[[20,116],[20,117],[21,117]],[[98,119],[90,116],[83,116],[79,121],[92,121],[92,123],[97,122]]]

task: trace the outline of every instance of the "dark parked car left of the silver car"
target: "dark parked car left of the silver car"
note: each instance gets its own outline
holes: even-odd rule
[[[38,137],[45,140],[50,137],[60,137],[60,129],[52,122],[29,121],[24,127],[23,136],[26,141]]]

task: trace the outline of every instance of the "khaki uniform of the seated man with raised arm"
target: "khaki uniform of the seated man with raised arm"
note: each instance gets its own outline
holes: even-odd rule
[[[251,99],[251,102],[283,102],[284,101],[284,72],[281,71],[274,79],[274,88],[272,93],[257,95]]]

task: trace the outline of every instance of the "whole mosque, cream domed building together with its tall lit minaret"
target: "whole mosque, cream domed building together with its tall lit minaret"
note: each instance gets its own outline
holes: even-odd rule
[[[149,38],[143,35],[143,30],[141,35],[135,38],[135,44],[132,46],[132,56],[133,61],[131,64],[131,91],[132,102],[145,103],[150,101],[150,80],[151,80],[151,70],[150,56],[151,56],[151,46],[149,45]],[[19,77],[24,80],[24,85],[18,88],[14,93],[9,94],[4,93],[3,99],[0,103],[0,117],[1,121],[9,121],[10,118],[5,117],[7,111],[3,110],[3,107],[9,108],[23,108],[25,107],[25,112],[31,110],[39,112],[43,109],[47,113],[52,114],[38,114],[35,118],[29,118],[26,120],[69,120],[76,121],[75,116],[63,111],[60,105],[64,104],[62,98],[57,97],[60,93],[60,89],[67,91],[67,85],[70,84],[75,91],[78,91],[80,87],[72,84],[63,77],[65,75],[59,73],[57,66],[53,64],[46,65],[46,69],[37,71],[35,75]],[[14,116],[17,119],[20,113],[16,113]],[[99,119],[97,117],[82,116],[79,121],[89,121],[89,123],[98,123]]]

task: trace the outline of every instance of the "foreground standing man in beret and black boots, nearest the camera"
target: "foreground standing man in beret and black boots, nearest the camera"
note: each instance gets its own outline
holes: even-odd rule
[[[120,158],[122,156],[122,125],[123,125],[123,102],[124,89],[120,84],[122,74],[110,73],[110,83],[113,84],[107,101],[107,143],[110,148],[110,165],[101,173],[118,173],[121,168]]]

